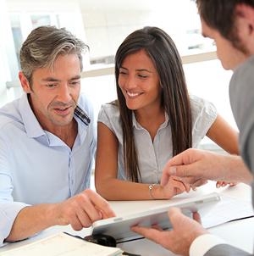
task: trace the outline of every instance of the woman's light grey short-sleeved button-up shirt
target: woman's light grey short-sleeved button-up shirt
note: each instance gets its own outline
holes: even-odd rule
[[[192,147],[197,147],[207,131],[217,118],[217,110],[212,103],[201,97],[191,96],[192,114]],[[165,114],[165,122],[160,125],[157,134],[152,141],[151,136],[132,115],[135,147],[141,171],[142,183],[159,183],[163,175],[163,168],[172,158],[171,128],[168,122],[168,114]],[[104,104],[98,114],[98,122],[107,125],[113,131],[119,141],[118,152],[118,178],[128,180],[124,169],[124,145],[123,131],[120,121],[119,108],[113,104]]]

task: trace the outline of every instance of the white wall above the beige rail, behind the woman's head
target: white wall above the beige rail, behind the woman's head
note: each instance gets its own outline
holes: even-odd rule
[[[80,10],[91,58],[114,55],[130,32],[146,25],[167,31],[179,52],[186,54],[191,38],[185,37],[185,32],[200,27],[196,4],[191,0],[80,0]],[[198,40],[204,39],[200,36]]]

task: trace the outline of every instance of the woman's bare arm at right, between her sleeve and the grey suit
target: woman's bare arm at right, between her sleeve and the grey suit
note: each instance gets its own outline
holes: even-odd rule
[[[220,115],[207,131],[207,136],[230,154],[239,154],[238,132],[235,131]]]

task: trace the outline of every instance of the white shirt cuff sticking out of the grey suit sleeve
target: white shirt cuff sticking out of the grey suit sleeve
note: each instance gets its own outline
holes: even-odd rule
[[[196,237],[196,239],[191,243],[190,256],[203,256],[211,248],[222,243],[225,243],[223,239],[211,234]]]

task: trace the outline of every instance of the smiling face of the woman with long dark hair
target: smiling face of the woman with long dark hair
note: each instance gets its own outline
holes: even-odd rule
[[[157,70],[145,50],[127,55],[119,69],[119,87],[128,109],[151,108],[161,103]]]

